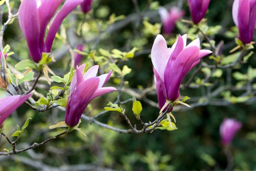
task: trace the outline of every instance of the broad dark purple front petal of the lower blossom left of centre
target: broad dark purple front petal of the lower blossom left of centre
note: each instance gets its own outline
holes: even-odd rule
[[[92,77],[82,82],[70,95],[65,110],[65,123],[74,127],[78,124],[85,108],[90,103],[91,97],[98,89],[100,79]]]

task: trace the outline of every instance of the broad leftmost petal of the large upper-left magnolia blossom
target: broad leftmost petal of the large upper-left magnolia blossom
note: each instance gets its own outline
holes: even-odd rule
[[[29,48],[29,54],[33,61],[37,63],[42,58],[42,52],[39,47],[40,24],[35,0],[23,0],[21,2],[19,21]]]

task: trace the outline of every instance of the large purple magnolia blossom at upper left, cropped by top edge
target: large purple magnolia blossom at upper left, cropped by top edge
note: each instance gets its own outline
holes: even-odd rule
[[[21,2],[19,9],[20,26],[29,48],[29,54],[35,62],[41,60],[43,52],[49,53],[51,51],[52,43],[62,21],[76,6],[83,2],[83,0],[66,0],[54,16],[62,1],[22,0]],[[49,22],[49,31],[44,41],[45,30]]]

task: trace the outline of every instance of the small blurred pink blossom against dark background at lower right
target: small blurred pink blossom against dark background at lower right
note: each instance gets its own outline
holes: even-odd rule
[[[220,125],[219,133],[224,145],[232,142],[236,132],[242,128],[242,123],[232,118],[225,118]]]

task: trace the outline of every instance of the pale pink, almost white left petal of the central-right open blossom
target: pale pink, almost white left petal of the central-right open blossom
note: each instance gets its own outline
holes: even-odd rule
[[[165,38],[162,35],[157,35],[151,50],[151,60],[162,80],[164,80],[165,68],[170,56],[171,49],[167,48]]]

